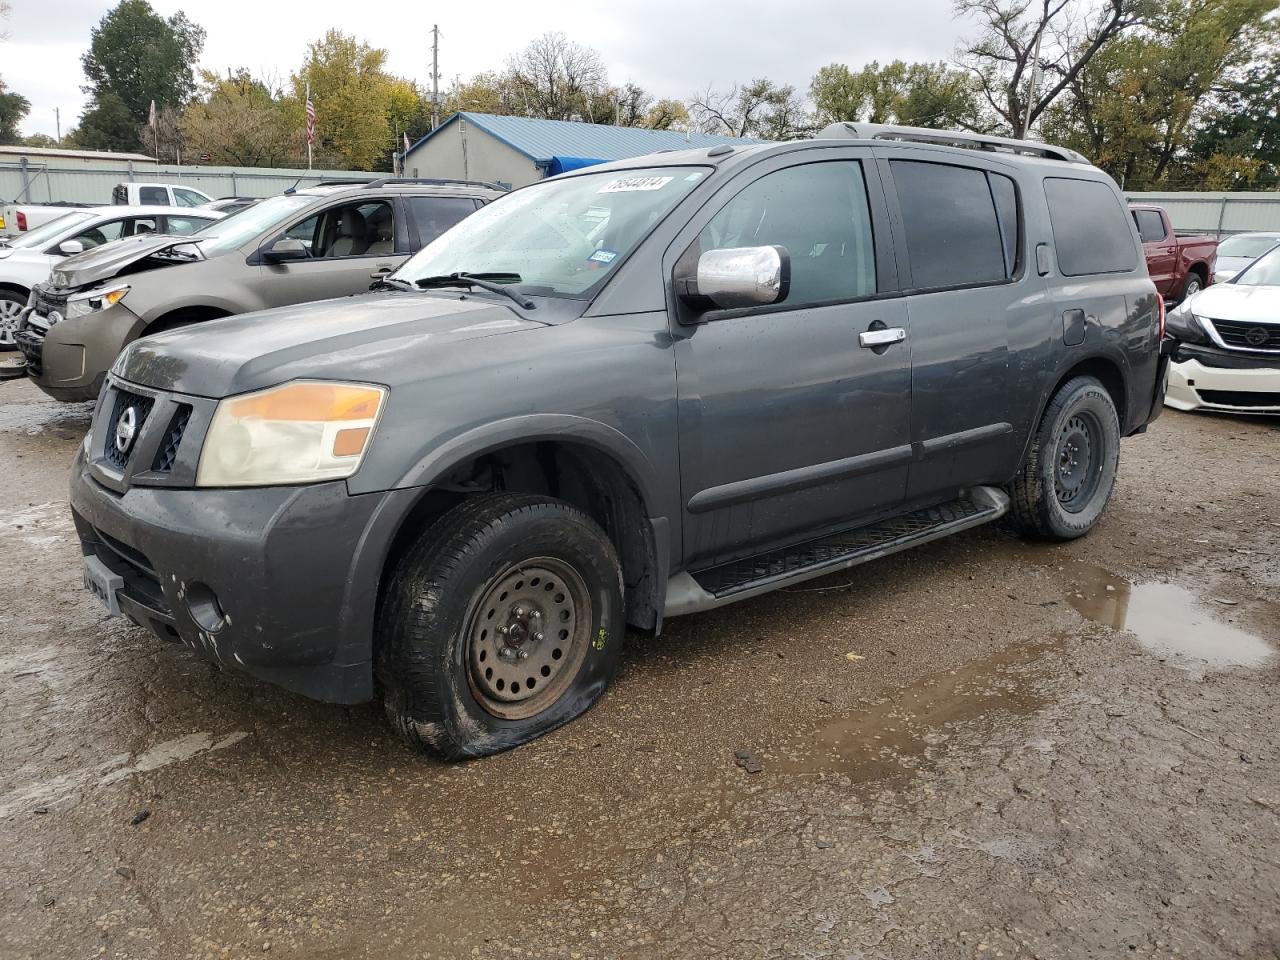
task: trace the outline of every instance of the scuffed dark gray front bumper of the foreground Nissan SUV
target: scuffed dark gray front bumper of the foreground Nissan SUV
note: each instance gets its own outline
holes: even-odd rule
[[[372,696],[388,548],[416,490],[344,481],[255,489],[99,483],[84,449],[70,503],[86,556],[124,586],[120,611],[223,667],[329,703]]]

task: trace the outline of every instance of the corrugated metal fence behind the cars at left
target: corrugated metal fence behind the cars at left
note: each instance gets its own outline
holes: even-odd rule
[[[375,180],[385,173],[351,170],[289,170],[255,166],[174,166],[142,163],[92,165],[50,159],[41,163],[0,161],[0,198],[24,204],[54,200],[73,204],[110,204],[111,187],[124,180],[184,183],[211,197],[269,197],[293,186],[325,180]]]

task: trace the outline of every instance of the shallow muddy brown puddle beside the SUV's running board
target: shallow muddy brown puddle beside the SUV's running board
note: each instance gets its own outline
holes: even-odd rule
[[[781,773],[841,773],[854,782],[914,773],[927,751],[950,740],[959,724],[997,713],[1029,714],[1044,699],[1027,682],[1025,668],[1047,644],[1014,646],[947,673],[925,677],[886,700],[837,717],[813,741],[781,760]]]

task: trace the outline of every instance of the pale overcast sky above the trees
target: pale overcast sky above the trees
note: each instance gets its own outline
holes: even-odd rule
[[[55,134],[54,109],[70,129],[84,109],[79,58],[109,0],[9,0],[0,77],[31,101],[23,133]],[[246,67],[282,83],[312,40],[338,28],[388,51],[392,73],[430,86],[431,24],[440,27],[440,88],[454,77],[500,68],[541,33],[561,31],[595,47],[614,83],[634,81],[686,100],[708,86],[768,77],[805,91],[819,67],[952,56],[964,24],[950,0],[576,0],[485,4],[351,0],[151,0],[207,31],[201,64]]]

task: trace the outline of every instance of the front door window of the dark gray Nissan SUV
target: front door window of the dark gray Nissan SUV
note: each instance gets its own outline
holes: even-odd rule
[[[698,252],[777,244],[791,255],[792,306],[876,293],[876,247],[863,165],[790,166],[728,201],[698,234]]]

